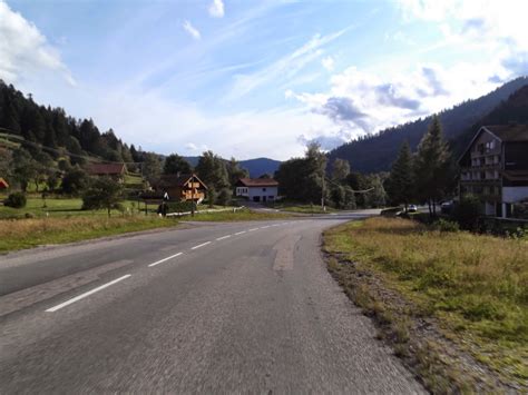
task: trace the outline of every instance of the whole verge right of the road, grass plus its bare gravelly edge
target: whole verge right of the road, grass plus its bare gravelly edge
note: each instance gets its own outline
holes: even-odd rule
[[[432,392],[528,389],[528,243],[371,218],[324,235],[329,270]]]

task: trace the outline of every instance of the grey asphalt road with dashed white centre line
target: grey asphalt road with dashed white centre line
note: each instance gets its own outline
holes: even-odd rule
[[[327,274],[352,216],[0,257],[0,393],[422,393]]]

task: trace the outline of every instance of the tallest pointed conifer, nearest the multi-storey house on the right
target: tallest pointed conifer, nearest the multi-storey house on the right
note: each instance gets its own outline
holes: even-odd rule
[[[450,184],[448,181],[449,161],[449,148],[443,139],[440,119],[436,115],[418,145],[414,160],[417,196],[428,203],[430,216],[437,214],[437,203],[443,197]]]

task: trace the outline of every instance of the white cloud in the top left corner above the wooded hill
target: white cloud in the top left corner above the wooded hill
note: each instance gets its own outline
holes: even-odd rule
[[[0,0],[0,79],[19,82],[28,75],[58,72],[71,86],[75,80],[46,37],[20,13]]]

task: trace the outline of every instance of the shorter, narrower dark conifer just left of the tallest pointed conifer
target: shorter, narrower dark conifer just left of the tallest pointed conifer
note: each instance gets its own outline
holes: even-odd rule
[[[385,185],[391,201],[395,205],[403,204],[407,211],[409,203],[414,197],[412,154],[407,141],[402,144],[398,158],[392,164]]]

